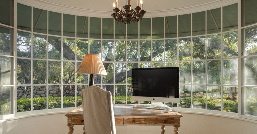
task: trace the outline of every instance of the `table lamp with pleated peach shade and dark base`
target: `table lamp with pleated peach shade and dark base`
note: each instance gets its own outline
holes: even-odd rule
[[[75,73],[90,74],[89,86],[94,85],[94,74],[107,75],[103,62],[98,54],[86,54]]]

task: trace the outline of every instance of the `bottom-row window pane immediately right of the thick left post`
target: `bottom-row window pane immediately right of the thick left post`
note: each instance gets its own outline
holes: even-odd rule
[[[31,111],[31,86],[17,86],[17,112]]]

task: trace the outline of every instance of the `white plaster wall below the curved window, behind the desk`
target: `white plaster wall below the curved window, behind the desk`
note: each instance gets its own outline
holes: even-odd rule
[[[201,114],[181,113],[180,134],[257,134],[257,123]],[[26,117],[0,123],[1,134],[66,134],[65,114]],[[173,134],[173,126],[166,126],[165,134]],[[116,126],[117,134],[157,134],[160,126]],[[75,125],[73,134],[82,134],[83,126]]]

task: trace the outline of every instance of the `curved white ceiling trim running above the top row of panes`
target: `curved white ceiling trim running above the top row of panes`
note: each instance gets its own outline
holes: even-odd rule
[[[79,16],[89,16],[89,17],[113,18],[111,16],[111,14],[113,13],[112,11],[95,11],[95,10],[88,10],[88,9],[80,9],[80,8],[55,4],[44,0],[17,0],[17,2],[28,6],[33,6],[35,8],[49,10],[49,11],[58,12],[58,13],[65,13],[65,14],[79,15]],[[238,0],[216,0],[209,3],[204,3],[204,4],[195,5],[191,7],[183,7],[178,9],[169,9],[169,10],[162,10],[162,11],[146,11],[146,14],[144,14],[144,18],[196,13],[196,12],[201,12],[205,10],[210,10],[210,9],[231,5],[237,2]]]

